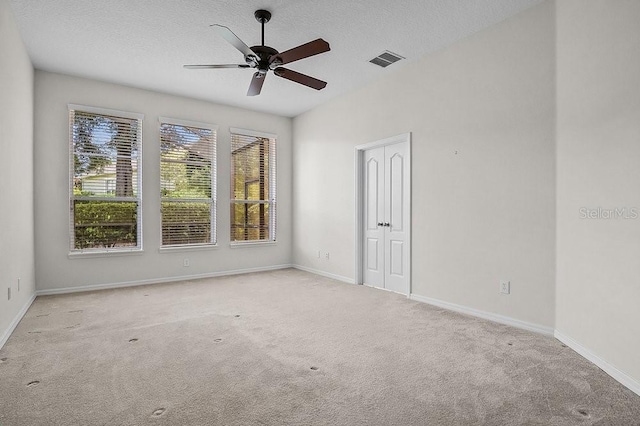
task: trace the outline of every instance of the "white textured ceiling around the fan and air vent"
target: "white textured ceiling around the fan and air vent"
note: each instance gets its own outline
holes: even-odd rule
[[[37,69],[295,116],[500,22],[540,0],[11,0]],[[272,12],[265,44],[279,51],[322,37],[331,51],[288,64],[328,82],[315,91],[269,73],[247,97],[254,70],[185,70],[244,63],[209,26],[260,44],[253,12]],[[405,58],[368,61],[384,50]]]

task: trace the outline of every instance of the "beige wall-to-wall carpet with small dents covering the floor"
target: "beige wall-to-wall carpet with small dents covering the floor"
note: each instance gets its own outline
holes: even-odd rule
[[[297,270],[39,297],[0,425],[638,425],[557,340]]]

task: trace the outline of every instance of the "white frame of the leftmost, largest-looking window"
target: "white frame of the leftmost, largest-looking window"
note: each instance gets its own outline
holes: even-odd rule
[[[74,149],[74,137],[73,126],[75,120],[76,111],[101,115],[108,117],[117,117],[127,120],[138,121],[136,144],[137,144],[137,156],[136,158],[136,194],[133,197],[96,197],[96,196],[76,196],[74,194],[74,180],[75,180],[75,154]],[[93,107],[79,104],[67,105],[67,120],[69,126],[69,257],[89,257],[89,256],[103,256],[103,255],[124,255],[124,254],[138,254],[144,250],[143,245],[143,221],[142,221],[142,169],[143,169],[143,126],[144,126],[144,114],[121,111],[116,109]],[[130,247],[100,247],[100,248],[75,248],[76,243],[76,229],[75,229],[75,201],[134,201],[136,203],[136,245]]]

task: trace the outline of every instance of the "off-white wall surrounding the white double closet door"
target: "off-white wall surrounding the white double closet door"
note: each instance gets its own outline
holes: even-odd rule
[[[413,293],[551,329],[554,25],[540,4],[295,118],[294,263],[353,279],[354,146],[412,132]]]

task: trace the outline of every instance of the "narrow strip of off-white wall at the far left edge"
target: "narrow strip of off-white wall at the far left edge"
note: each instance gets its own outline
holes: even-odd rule
[[[0,347],[35,294],[33,67],[7,0],[0,0]],[[18,278],[20,290],[18,291]],[[11,288],[11,300],[7,289]]]

